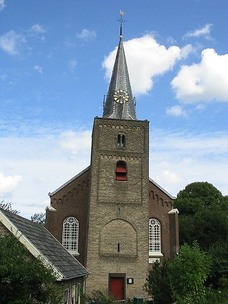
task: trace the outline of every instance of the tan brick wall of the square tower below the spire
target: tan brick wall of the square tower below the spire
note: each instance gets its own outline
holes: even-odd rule
[[[120,130],[126,134],[124,148],[117,147]],[[118,160],[127,164],[126,182],[115,180]],[[126,278],[134,278],[134,284],[126,285],[126,297],[144,296],[143,284],[148,268],[145,254],[148,251],[148,122],[95,118],[91,176],[87,256],[87,269],[91,275],[87,288],[108,290],[108,274],[124,273]],[[98,233],[103,221],[118,214],[126,220],[107,222]],[[127,218],[138,227],[137,232]],[[118,243],[120,251],[116,252]],[[131,248],[126,246],[122,251],[121,244]]]

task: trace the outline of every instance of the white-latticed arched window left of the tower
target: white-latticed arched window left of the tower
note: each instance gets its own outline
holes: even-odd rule
[[[63,222],[62,245],[71,254],[78,253],[79,222],[75,217],[67,217]]]

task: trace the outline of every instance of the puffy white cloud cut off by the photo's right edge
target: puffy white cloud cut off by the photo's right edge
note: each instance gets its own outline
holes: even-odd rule
[[[176,98],[185,103],[228,100],[228,54],[202,51],[199,64],[183,65],[172,82]]]

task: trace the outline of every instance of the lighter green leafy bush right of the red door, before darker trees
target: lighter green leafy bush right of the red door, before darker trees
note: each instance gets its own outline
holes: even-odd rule
[[[149,271],[145,289],[153,296],[154,304],[206,304],[205,281],[210,259],[195,242],[184,244],[173,260],[156,262]]]

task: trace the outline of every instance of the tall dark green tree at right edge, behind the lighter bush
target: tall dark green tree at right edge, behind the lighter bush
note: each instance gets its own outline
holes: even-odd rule
[[[228,197],[208,182],[194,182],[178,193],[174,205],[179,210],[180,245],[196,240],[210,255],[207,285],[218,288],[218,280],[228,276]]]

